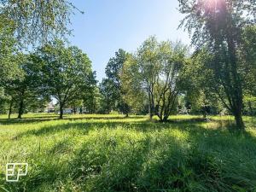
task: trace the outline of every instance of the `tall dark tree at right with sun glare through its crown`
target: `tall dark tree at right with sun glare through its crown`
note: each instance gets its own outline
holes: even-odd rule
[[[181,26],[192,33],[196,49],[209,49],[209,68],[214,72],[215,91],[224,106],[235,116],[238,130],[242,121],[242,79],[238,48],[242,30],[255,24],[256,3],[250,0],[179,0],[179,10],[186,14]]]

